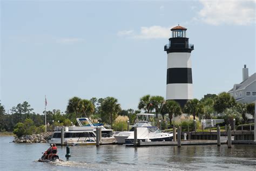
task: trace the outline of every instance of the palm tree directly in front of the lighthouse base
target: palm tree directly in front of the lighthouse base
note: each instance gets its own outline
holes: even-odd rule
[[[170,124],[172,123],[173,116],[176,117],[178,115],[181,115],[181,107],[178,104],[178,102],[174,100],[167,100],[165,104],[163,105],[162,112],[163,115],[165,113],[169,114]]]

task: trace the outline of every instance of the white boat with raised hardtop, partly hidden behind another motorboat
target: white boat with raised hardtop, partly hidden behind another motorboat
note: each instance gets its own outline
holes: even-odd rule
[[[124,131],[124,132],[119,132],[118,134],[114,134],[114,138],[116,139],[116,142],[118,144],[123,144],[125,143],[125,139],[127,139],[131,133],[133,133],[133,128],[134,127],[149,127],[152,126],[149,117],[153,117],[154,114],[151,113],[138,113],[136,114],[136,120],[135,124],[132,126],[130,131]]]

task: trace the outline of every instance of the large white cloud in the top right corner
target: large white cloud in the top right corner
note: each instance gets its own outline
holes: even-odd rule
[[[203,9],[198,12],[199,20],[211,25],[250,25],[255,23],[255,2],[200,0]]]

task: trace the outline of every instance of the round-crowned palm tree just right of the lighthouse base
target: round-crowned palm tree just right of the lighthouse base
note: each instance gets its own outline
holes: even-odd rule
[[[187,114],[193,115],[193,119],[196,120],[196,116],[204,113],[204,106],[199,102],[198,99],[188,100],[184,106],[184,111]]]

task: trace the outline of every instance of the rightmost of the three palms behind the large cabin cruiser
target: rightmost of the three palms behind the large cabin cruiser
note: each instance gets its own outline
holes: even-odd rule
[[[112,127],[113,120],[122,109],[116,98],[106,97],[101,103],[100,111],[102,112],[103,118],[110,120],[110,125]]]

